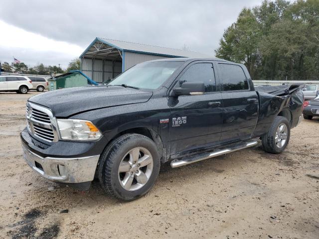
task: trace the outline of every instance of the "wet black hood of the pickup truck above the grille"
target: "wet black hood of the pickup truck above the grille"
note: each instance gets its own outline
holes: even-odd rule
[[[95,109],[147,102],[151,91],[121,86],[88,86],[46,92],[28,101],[49,108],[53,116],[69,116]]]

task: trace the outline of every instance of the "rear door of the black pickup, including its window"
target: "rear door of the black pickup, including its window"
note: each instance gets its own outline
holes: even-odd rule
[[[217,63],[223,98],[221,142],[251,137],[258,119],[258,96],[240,65]]]

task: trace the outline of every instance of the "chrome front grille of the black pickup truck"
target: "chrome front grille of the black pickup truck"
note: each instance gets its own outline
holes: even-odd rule
[[[27,128],[32,135],[48,142],[58,140],[55,120],[49,109],[28,102],[26,121]]]

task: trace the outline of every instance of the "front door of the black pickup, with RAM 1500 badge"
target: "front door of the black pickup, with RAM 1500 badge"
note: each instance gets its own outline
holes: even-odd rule
[[[203,95],[170,97],[170,154],[178,154],[218,144],[222,124],[221,93],[216,91],[212,62],[188,65],[175,87],[184,82],[204,82]],[[219,87],[219,86],[218,86]]]

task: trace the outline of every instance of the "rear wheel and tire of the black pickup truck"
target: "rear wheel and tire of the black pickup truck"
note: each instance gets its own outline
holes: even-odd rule
[[[268,133],[262,136],[263,149],[269,153],[282,153],[289,143],[289,138],[290,124],[288,120],[285,117],[277,116]]]

